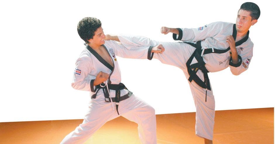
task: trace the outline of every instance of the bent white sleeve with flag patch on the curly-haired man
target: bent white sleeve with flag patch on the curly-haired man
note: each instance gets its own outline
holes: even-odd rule
[[[77,90],[85,90],[94,92],[94,79],[89,77],[92,70],[92,59],[89,57],[81,57],[75,62],[75,72],[73,75],[72,87]]]

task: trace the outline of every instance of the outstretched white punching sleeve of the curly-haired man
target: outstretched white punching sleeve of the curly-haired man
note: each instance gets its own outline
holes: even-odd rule
[[[106,45],[114,48],[114,53],[116,56],[130,59],[147,59],[148,54],[151,55],[152,47],[136,44],[129,40],[123,39],[120,36],[118,36],[118,38],[121,43],[117,43],[113,40],[108,40],[105,42]]]

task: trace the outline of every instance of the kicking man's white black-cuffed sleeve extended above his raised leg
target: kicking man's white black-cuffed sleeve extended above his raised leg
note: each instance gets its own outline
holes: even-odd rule
[[[221,32],[224,25],[225,23],[223,22],[215,22],[200,28],[177,28],[179,34],[173,34],[173,39],[184,42],[197,42],[207,37],[214,37]]]

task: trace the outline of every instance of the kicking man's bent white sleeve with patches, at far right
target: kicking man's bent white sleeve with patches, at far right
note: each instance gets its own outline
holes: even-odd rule
[[[252,46],[253,48],[253,46]],[[230,71],[233,75],[240,75],[241,73],[243,73],[244,71],[246,71],[248,69],[248,66],[250,64],[250,61],[252,59],[252,55],[253,55],[253,49],[251,48],[250,51],[247,52],[241,52],[240,54],[238,54],[238,58],[239,58],[239,62],[238,64],[233,64],[232,63],[232,59],[230,59],[229,61],[229,67],[230,67]],[[241,51],[242,47],[238,48],[239,51]],[[244,48],[247,49],[247,48]]]

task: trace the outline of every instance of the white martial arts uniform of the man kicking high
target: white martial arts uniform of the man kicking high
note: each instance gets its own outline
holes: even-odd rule
[[[229,44],[226,42],[226,36],[232,35],[233,27],[233,23],[215,22],[200,28],[178,29],[180,32],[176,38],[184,42],[202,41],[202,51],[204,51],[203,49],[208,48],[224,50],[229,47]],[[236,32],[235,27],[234,29]],[[164,64],[169,64],[181,68],[185,76],[189,78],[186,62],[196,49],[190,44],[184,42],[157,42],[140,36],[121,35],[118,36],[118,38],[126,48],[132,49],[137,48],[137,46],[154,47],[157,44],[162,44],[165,48],[165,52],[163,52],[163,54],[154,54],[153,58],[159,59],[159,61]],[[252,58],[253,43],[251,42],[248,35],[246,41],[244,39],[240,41],[244,42],[239,46],[236,46],[236,49],[238,51],[239,58],[241,57],[242,61],[239,59],[238,64],[229,64],[231,58],[230,50],[222,54],[203,54],[202,58],[206,63],[205,67],[207,70],[209,72],[216,72],[221,71],[229,66],[231,72],[234,75],[239,75],[243,71],[247,70]],[[195,59],[193,59],[191,64],[194,63],[197,63]],[[198,70],[196,74],[201,80],[204,79],[204,74],[201,70]],[[212,140],[215,116],[215,100],[212,89],[207,90],[206,101],[206,89],[197,85],[194,80],[191,81],[191,83],[189,82],[189,85],[196,107],[196,135]]]

